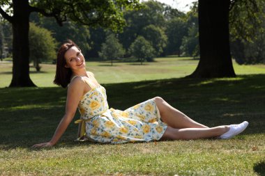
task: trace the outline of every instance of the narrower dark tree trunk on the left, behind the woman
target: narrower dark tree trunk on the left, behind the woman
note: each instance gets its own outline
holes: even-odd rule
[[[29,77],[29,2],[13,0],[13,78],[10,87],[35,86]]]

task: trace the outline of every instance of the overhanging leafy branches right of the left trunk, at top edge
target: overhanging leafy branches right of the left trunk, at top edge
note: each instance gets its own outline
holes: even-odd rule
[[[91,1],[30,1],[31,6],[44,9],[47,13],[54,13],[57,22],[71,19],[79,24],[88,26],[102,26],[121,31],[125,25],[124,9],[140,8],[139,0],[91,0]],[[43,15],[45,15],[43,13]]]

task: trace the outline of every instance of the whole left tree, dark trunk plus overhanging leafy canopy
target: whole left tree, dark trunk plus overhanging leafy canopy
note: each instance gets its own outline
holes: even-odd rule
[[[88,26],[119,31],[125,25],[123,11],[139,8],[139,0],[1,0],[0,14],[13,26],[13,78],[10,86],[35,86],[29,77],[29,15],[54,17],[59,25],[71,19]],[[7,6],[6,10],[3,6]]]

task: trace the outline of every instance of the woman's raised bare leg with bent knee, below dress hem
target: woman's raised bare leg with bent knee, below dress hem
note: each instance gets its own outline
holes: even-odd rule
[[[161,97],[154,97],[153,99],[156,102],[156,106],[158,106],[162,121],[167,123],[169,127],[173,127],[175,129],[209,128],[195,122],[181,111],[174,109],[174,107],[170,106],[170,104],[165,102],[165,100]]]

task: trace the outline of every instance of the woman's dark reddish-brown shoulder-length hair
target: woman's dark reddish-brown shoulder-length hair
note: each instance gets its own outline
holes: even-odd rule
[[[73,42],[72,40],[66,40],[66,42],[61,45],[59,48],[58,54],[57,54],[57,61],[56,61],[56,74],[54,78],[54,83],[58,86],[62,86],[63,88],[66,88],[68,86],[68,83],[70,83],[70,77],[72,75],[72,70],[70,68],[65,67],[66,66],[66,58],[64,58],[64,55],[66,54],[66,51],[70,49],[71,47],[79,47]],[[81,49],[79,49],[81,51]]]

